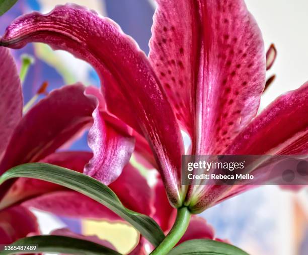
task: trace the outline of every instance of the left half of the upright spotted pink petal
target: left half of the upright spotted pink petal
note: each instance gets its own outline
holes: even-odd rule
[[[200,18],[194,1],[158,0],[149,61],[162,81],[182,127],[193,136],[200,54]],[[179,15],[180,14],[180,15]]]

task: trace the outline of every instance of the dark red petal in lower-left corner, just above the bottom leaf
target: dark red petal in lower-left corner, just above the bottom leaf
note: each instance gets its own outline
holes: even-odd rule
[[[22,206],[0,211],[0,244],[10,244],[29,234],[39,234],[36,217]]]

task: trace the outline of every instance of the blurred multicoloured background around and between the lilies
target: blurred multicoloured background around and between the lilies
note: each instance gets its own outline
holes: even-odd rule
[[[32,10],[47,13],[67,0],[20,0],[1,17],[0,32],[13,19]],[[116,21],[122,30],[131,35],[140,48],[148,53],[151,36],[152,0],[70,0],[96,10]],[[276,79],[261,100],[261,108],[285,91],[296,89],[308,80],[308,33],[306,0],[246,0],[250,12],[263,33],[265,47],[274,43],[278,55],[268,77]],[[28,45],[14,51],[19,62],[22,54],[34,57],[24,83],[25,103],[36,93],[44,81],[48,90],[81,81],[99,86],[95,71],[85,62],[67,52],[52,51],[43,44]],[[87,150],[87,134],[72,145],[72,150]],[[150,179],[151,176],[148,177]],[[202,213],[216,231],[216,237],[243,248],[253,255],[304,255],[308,254],[308,193],[282,191],[276,186],[263,186],[223,202]],[[137,240],[135,230],[125,224],[61,218],[35,211],[42,233],[68,227],[86,235],[98,235],[109,240],[119,252],[128,252]],[[120,232],[119,232],[120,231]],[[120,233],[120,234],[119,234]]]

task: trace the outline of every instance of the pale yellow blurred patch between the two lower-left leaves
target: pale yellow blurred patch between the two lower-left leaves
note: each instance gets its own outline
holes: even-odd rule
[[[118,252],[126,254],[136,245],[139,240],[138,232],[124,223],[110,223],[107,221],[82,221],[84,235],[97,235],[115,246]]]

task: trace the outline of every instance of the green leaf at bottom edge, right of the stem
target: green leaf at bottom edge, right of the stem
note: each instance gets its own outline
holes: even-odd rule
[[[180,254],[248,255],[236,246],[208,239],[194,239],[183,242],[168,253],[168,255]]]

